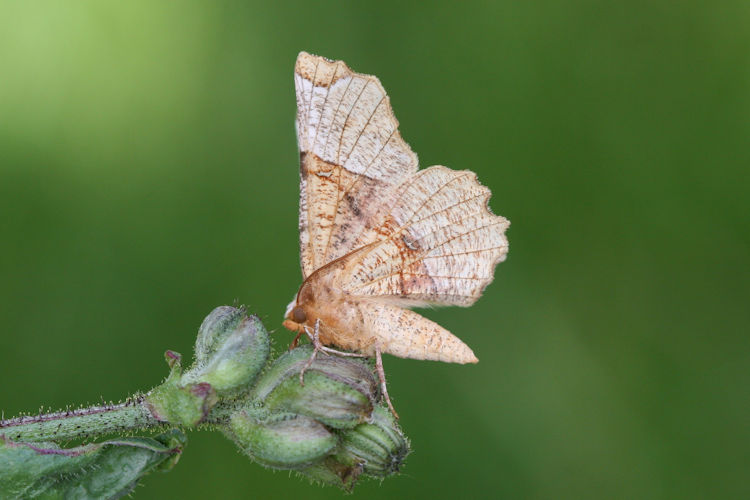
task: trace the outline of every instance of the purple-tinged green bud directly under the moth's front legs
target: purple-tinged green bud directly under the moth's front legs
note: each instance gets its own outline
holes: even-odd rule
[[[370,418],[378,384],[364,362],[319,353],[307,367],[304,385],[300,371],[312,354],[310,346],[280,356],[252,392],[268,410],[312,417],[333,428],[351,428]]]

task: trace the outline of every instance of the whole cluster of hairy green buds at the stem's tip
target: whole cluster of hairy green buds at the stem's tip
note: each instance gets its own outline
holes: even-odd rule
[[[398,471],[409,444],[379,404],[367,361],[318,353],[310,362],[307,345],[268,364],[269,352],[257,317],[217,308],[201,325],[189,370],[167,352],[172,372],[146,396],[149,408],[172,424],[213,423],[261,465],[344,489],[360,475]]]

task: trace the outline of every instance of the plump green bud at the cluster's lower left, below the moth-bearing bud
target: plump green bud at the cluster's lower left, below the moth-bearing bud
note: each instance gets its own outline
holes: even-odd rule
[[[276,469],[308,466],[325,458],[337,444],[325,426],[303,415],[250,413],[232,415],[229,434],[261,465]]]

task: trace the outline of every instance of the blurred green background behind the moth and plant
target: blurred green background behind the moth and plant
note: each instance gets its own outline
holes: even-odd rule
[[[380,77],[510,254],[387,357],[414,452],[356,498],[750,495],[750,4],[3,2],[0,407],[117,400],[300,281],[294,60]],[[136,498],[328,498],[208,432]]]

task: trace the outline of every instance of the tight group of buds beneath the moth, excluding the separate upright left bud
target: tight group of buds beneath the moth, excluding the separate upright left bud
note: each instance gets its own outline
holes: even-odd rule
[[[409,445],[377,403],[377,380],[360,360],[319,355],[309,346],[282,356],[232,415],[228,434],[255,461],[350,489],[360,474],[398,471]],[[300,371],[305,369],[304,385]]]

